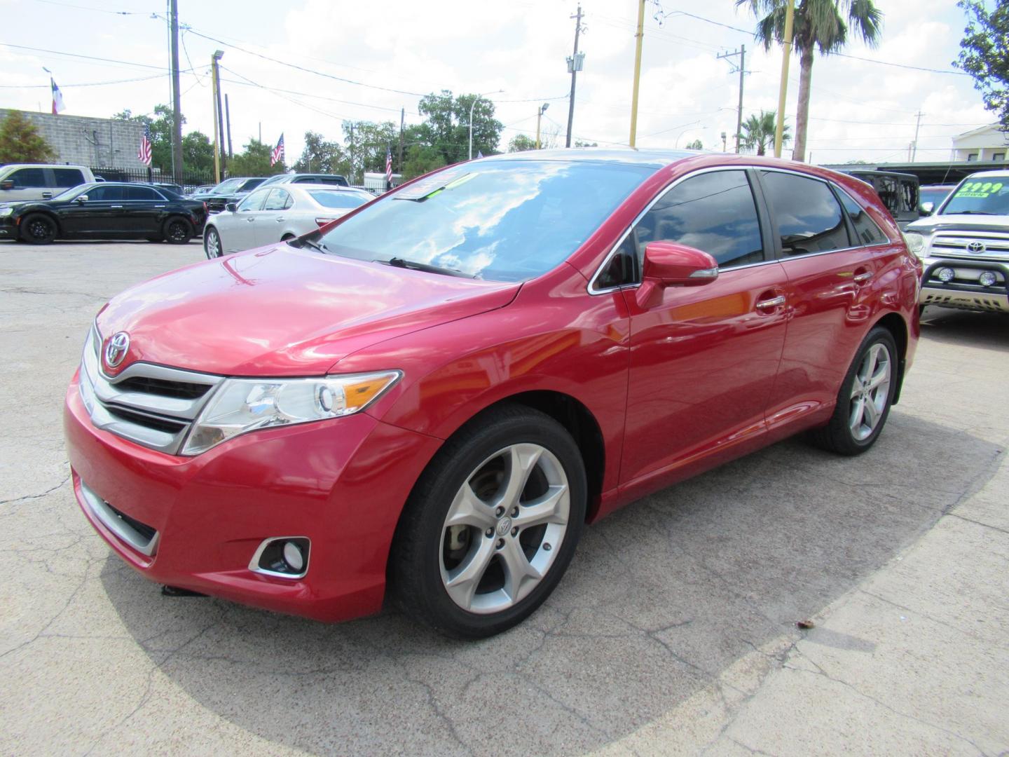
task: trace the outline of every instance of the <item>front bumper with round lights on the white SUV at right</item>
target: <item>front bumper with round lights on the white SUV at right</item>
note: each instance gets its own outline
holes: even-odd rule
[[[987,313],[1009,313],[1009,262],[1002,260],[965,259],[959,257],[925,257],[921,275],[920,305],[973,310]],[[952,268],[955,278],[943,283],[938,279],[942,268]],[[994,286],[985,287],[978,281],[981,274],[996,276]]]

